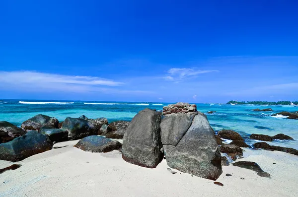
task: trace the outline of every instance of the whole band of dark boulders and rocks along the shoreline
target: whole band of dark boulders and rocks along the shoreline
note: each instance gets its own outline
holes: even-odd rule
[[[123,144],[110,138],[123,138]],[[282,133],[275,136],[252,134],[250,138],[293,140]],[[131,122],[109,124],[105,118],[88,119],[81,116],[68,117],[59,123],[54,117],[39,114],[23,122],[20,129],[2,121],[0,160],[21,161],[51,150],[54,143],[77,139],[80,140],[74,147],[84,151],[119,150],[125,161],[147,168],[156,168],[164,158],[172,169],[210,180],[223,176],[222,165],[229,165],[241,158],[242,148],[263,148],[298,155],[294,148],[270,146],[265,142],[257,142],[251,147],[239,133],[232,130],[215,132],[206,115],[197,111],[196,105],[177,103],[163,107],[162,113],[142,110]],[[222,139],[232,141],[226,144]],[[259,172],[259,176],[270,178],[265,172]]]

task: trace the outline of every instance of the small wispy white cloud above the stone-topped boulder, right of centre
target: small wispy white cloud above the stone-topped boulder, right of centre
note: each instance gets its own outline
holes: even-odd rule
[[[200,70],[197,68],[170,68],[167,73],[169,75],[163,77],[166,80],[183,80],[190,77],[195,77],[199,74],[219,72],[219,70]]]

